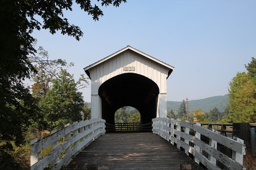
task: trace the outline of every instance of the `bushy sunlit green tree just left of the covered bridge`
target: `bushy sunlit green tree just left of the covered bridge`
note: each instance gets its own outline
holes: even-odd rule
[[[61,69],[60,74],[53,79],[52,88],[39,101],[48,130],[63,128],[67,123],[82,120],[84,101],[77,86],[79,83],[65,69]]]

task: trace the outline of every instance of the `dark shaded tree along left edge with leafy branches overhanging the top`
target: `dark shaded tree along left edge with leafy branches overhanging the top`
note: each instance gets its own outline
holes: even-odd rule
[[[118,7],[126,0],[95,0],[101,6]],[[102,10],[91,0],[76,0],[80,8],[99,20]],[[22,83],[36,73],[29,61],[36,50],[34,30],[49,29],[51,34],[59,31],[79,40],[83,33],[78,26],[68,22],[65,11],[72,11],[72,0],[1,0],[0,1],[0,167],[13,168],[16,164],[9,158],[12,149],[9,141],[21,144],[23,129],[28,127],[29,119],[37,120],[37,105],[29,89]],[[35,89],[43,89],[37,84]],[[35,86],[34,86],[35,87]],[[4,141],[2,143],[2,141]],[[5,143],[6,141],[6,143]],[[4,162],[4,163],[3,163]]]

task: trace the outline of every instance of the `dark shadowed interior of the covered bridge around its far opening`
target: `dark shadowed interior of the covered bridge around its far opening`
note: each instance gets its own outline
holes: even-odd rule
[[[102,118],[115,124],[115,112],[124,106],[131,106],[141,113],[141,124],[156,118],[156,97],[159,87],[151,79],[125,73],[105,81],[99,88],[102,100]]]

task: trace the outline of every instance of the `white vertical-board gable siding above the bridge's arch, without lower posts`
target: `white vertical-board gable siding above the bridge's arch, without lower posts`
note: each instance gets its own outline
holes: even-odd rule
[[[124,71],[124,66],[134,66],[135,71]],[[91,82],[94,82],[92,83],[91,94],[98,94],[100,85],[110,78],[131,72],[150,78],[159,86],[160,93],[166,93],[166,78],[169,70],[159,63],[127,50],[88,70],[91,75]]]

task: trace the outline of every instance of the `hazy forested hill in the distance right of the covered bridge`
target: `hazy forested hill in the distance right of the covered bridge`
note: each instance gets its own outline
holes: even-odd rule
[[[188,112],[193,113],[194,109],[201,109],[203,113],[209,112],[213,108],[217,108],[220,112],[224,112],[229,102],[228,95],[214,96],[210,98],[204,98],[199,100],[188,100]],[[181,101],[167,101],[167,111],[174,110],[174,113],[178,112]]]

